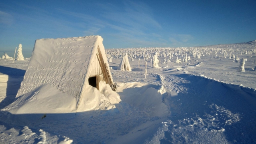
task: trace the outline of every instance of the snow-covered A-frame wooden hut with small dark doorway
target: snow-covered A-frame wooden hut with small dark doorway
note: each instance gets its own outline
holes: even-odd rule
[[[101,36],[36,40],[16,98],[45,84],[78,99],[86,85],[99,89],[104,81],[112,86],[102,41]]]

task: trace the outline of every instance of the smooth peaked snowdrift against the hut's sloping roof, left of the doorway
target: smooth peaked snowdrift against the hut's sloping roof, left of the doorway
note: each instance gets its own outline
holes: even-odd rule
[[[22,95],[6,109],[12,114],[75,112],[76,100],[56,87],[45,84]]]

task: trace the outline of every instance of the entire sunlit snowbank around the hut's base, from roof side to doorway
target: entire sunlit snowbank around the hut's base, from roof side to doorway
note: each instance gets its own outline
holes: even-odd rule
[[[84,112],[89,110],[110,110],[119,103],[118,93],[111,87],[100,82],[100,91],[91,85],[86,86],[85,97],[81,98],[77,108],[77,99],[67,93],[59,91],[56,87],[45,84],[26,93],[4,110],[12,114],[62,114]]]

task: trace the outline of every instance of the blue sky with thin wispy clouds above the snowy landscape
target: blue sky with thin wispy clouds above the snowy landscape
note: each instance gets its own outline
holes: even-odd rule
[[[100,35],[106,49],[256,39],[256,0],[1,0],[0,55],[36,39]],[[2,53],[2,54],[1,54]]]

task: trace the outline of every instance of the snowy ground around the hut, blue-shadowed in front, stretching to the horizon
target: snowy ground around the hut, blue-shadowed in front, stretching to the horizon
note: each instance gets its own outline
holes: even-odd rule
[[[150,65],[154,52],[159,54],[159,68]],[[255,52],[256,41],[198,48],[106,50],[107,57],[112,57],[109,65],[121,101],[114,107],[100,106],[77,114],[12,113],[29,59],[14,63],[0,59],[0,143],[256,143]],[[132,71],[116,70],[125,53]],[[177,57],[183,61],[185,53],[191,59],[175,63]],[[240,60],[236,63],[233,55],[247,59],[245,72],[238,72]],[[48,109],[47,105],[36,108]]]

